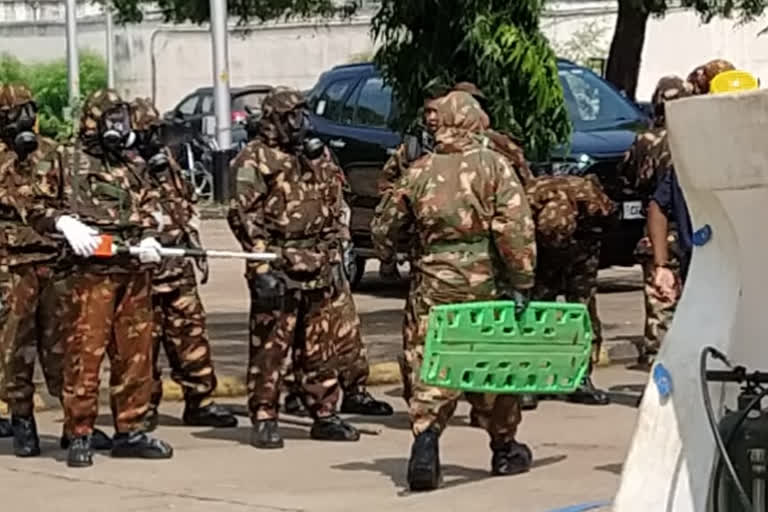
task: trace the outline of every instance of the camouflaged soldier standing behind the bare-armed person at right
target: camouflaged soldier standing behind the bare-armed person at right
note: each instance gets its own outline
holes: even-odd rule
[[[692,73],[692,75],[695,77],[697,73]],[[624,157],[624,162],[620,167],[624,187],[642,198],[644,212],[648,210],[648,204],[660,177],[672,168],[664,105],[668,101],[690,96],[693,91],[694,86],[692,84],[676,76],[665,76],[659,80],[652,97],[653,126],[638,134]],[[676,226],[670,225],[667,241],[670,255],[667,265],[675,273],[675,278],[682,281],[680,275],[682,254],[678,244]],[[643,291],[645,295],[645,336],[642,343],[637,346],[638,363],[650,365],[672,323],[677,301],[665,300],[655,293],[653,247],[647,234],[638,242],[635,256],[643,268]]]

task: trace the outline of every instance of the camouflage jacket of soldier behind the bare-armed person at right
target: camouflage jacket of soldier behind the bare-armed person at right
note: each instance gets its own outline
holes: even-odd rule
[[[670,169],[672,155],[667,130],[656,127],[637,135],[619,165],[619,176],[625,192],[639,194],[643,208],[647,209],[659,178]]]

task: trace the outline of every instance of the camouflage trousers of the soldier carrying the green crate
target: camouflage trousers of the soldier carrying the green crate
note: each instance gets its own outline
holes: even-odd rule
[[[461,302],[455,300],[453,302]],[[440,432],[445,430],[448,421],[456,411],[456,405],[462,396],[461,391],[437,388],[424,384],[419,375],[424,362],[424,344],[427,335],[429,310],[437,303],[418,288],[412,289],[408,300],[409,311],[404,326],[404,360],[401,369],[408,391],[408,415],[414,436],[418,436],[430,427]],[[520,398],[517,395],[496,395],[465,393],[472,405],[478,425],[485,429],[492,441],[511,441],[517,434],[517,427],[522,419]]]

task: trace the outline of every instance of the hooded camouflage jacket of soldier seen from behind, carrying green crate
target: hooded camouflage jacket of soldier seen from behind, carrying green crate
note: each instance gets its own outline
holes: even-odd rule
[[[445,119],[436,152],[414,162],[376,210],[377,251],[391,260],[398,230],[415,226],[420,287],[445,302],[530,288],[534,225],[514,169],[484,147],[471,96],[450,93],[439,110]]]

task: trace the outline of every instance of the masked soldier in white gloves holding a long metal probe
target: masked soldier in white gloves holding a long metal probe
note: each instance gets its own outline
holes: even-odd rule
[[[143,431],[152,391],[151,267],[158,253],[159,207],[149,193],[145,163],[126,148],[135,141],[129,105],[113,90],[86,100],[73,147],[59,164],[41,169],[32,223],[40,233],[60,233],[73,265],[62,290],[74,321],[60,325],[65,343],[65,431],[72,438],[71,467],[93,464],[92,434],[98,414],[99,373],[110,358],[111,405],[116,434],[113,457],[170,458],[172,448]],[[139,244],[132,256],[96,255],[100,235]]]

